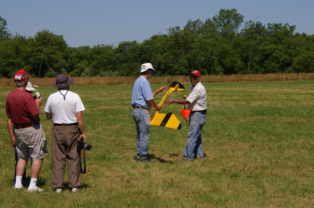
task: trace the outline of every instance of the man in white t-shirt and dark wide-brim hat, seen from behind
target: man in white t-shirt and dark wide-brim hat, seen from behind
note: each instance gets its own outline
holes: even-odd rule
[[[52,119],[51,129],[52,176],[51,188],[62,192],[66,160],[68,161],[68,182],[72,192],[81,190],[81,160],[77,151],[78,140],[86,143],[82,111],[85,110],[78,94],[69,91],[74,79],[66,74],[57,76],[52,86],[58,92],[51,94],[46,103],[47,119]]]

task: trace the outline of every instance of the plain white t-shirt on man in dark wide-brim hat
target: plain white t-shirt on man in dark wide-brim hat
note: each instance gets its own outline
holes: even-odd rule
[[[67,90],[60,90],[65,95]],[[78,94],[68,91],[63,99],[59,91],[51,94],[45,106],[45,112],[52,113],[52,122],[55,124],[73,124],[77,122],[76,112],[85,110]]]

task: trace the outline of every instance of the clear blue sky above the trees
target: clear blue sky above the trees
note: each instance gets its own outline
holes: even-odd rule
[[[142,43],[189,19],[204,22],[221,8],[237,9],[244,22],[289,23],[295,32],[314,34],[314,0],[0,0],[10,33],[28,37],[45,29],[71,47]]]

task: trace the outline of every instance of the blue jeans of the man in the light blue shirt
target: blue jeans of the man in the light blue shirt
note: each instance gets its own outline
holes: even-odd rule
[[[149,139],[149,126],[150,116],[149,111],[146,109],[133,109],[132,117],[136,124],[137,140],[136,152],[140,159],[146,159],[148,154],[148,139]]]

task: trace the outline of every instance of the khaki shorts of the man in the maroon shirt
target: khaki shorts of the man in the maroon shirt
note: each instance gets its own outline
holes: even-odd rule
[[[15,145],[19,160],[41,160],[48,155],[47,140],[41,124],[30,128],[14,129]]]

